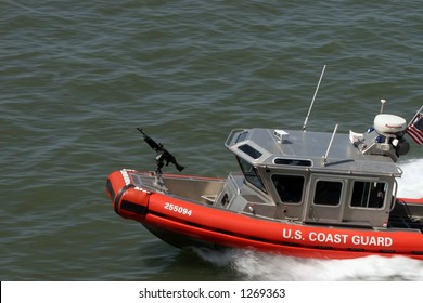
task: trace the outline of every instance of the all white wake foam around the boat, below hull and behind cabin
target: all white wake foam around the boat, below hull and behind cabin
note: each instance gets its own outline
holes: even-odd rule
[[[423,197],[423,159],[401,166],[403,177],[398,182],[401,197]],[[422,280],[423,261],[396,256],[367,256],[350,260],[316,260],[267,254],[247,250],[213,252],[196,250],[204,260],[217,266],[229,266],[245,280],[354,281],[354,280]]]

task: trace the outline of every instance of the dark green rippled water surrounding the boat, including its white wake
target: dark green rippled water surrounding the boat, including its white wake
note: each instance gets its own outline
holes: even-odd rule
[[[366,131],[423,102],[421,1],[0,0],[1,280],[423,280],[423,262],[180,251],[114,212],[108,173],[238,170],[233,128]],[[423,147],[399,166],[423,196]],[[167,172],[176,172],[169,167]]]

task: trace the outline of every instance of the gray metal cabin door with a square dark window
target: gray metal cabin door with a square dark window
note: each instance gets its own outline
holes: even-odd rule
[[[342,222],[345,206],[345,181],[328,175],[312,175],[305,207],[307,222]]]

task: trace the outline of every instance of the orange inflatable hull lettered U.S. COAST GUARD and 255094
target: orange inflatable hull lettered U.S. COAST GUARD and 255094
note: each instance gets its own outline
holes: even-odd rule
[[[106,188],[116,213],[140,222],[180,248],[242,248],[319,259],[377,254],[423,260],[423,234],[419,229],[325,227],[264,220],[136,187],[120,171],[110,175]],[[423,198],[400,200],[423,203]]]

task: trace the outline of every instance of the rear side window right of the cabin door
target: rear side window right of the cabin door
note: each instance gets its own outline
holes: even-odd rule
[[[351,207],[382,208],[385,200],[385,182],[354,182]]]

